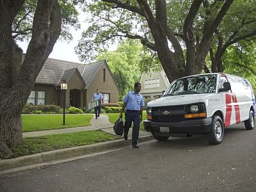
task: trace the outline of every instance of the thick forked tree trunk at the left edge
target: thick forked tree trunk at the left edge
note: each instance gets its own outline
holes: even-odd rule
[[[0,0],[0,151],[5,153],[22,142],[22,108],[61,29],[58,1],[39,0],[22,63],[22,50],[12,38],[12,22],[23,3]]]

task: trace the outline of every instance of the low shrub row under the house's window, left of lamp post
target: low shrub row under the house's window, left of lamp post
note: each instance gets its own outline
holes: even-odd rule
[[[56,105],[33,106],[33,104],[26,104],[22,113],[32,113],[32,111],[42,111],[42,113],[62,113],[63,109]]]

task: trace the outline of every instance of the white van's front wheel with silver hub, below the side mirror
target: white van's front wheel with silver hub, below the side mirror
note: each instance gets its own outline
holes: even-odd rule
[[[222,142],[224,136],[223,122],[218,115],[212,117],[211,131],[206,134],[207,141],[212,145],[218,145]]]

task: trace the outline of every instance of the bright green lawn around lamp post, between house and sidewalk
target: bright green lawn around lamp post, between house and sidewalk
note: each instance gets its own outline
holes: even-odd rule
[[[22,115],[23,132],[88,126],[93,115]]]

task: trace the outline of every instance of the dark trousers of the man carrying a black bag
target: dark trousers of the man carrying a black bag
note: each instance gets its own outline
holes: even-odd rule
[[[124,134],[127,135],[133,122],[132,143],[137,143],[140,131],[140,111],[125,112]]]

